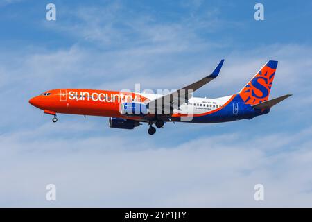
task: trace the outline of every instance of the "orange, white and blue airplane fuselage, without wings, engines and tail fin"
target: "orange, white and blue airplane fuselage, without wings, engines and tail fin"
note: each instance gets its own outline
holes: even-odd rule
[[[94,89],[53,89],[35,96],[30,103],[46,114],[80,114],[101,117],[117,117],[145,121],[144,118],[121,114],[121,103],[146,103],[163,96]],[[263,112],[255,112],[245,105],[238,94],[208,99],[192,97],[173,110],[171,121],[181,121],[189,114],[191,123],[218,123],[238,119],[251,119]],[[267,113],[267,112],[266,112]]]

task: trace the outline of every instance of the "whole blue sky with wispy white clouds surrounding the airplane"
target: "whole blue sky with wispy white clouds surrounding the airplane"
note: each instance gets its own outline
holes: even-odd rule
[[[45,19],[55,3],[57,20]],[[265,20],[254,20],[263,3]],[[0,1],[0,206],[311,207],[311,1]],[[28,99],[55,88],[233,94],[279,60],[270,114],[210,125],[108,128],[51,117]],[[57,201],[45,199],[54,183]],[[254,201],[254,185],[265,201]]]

